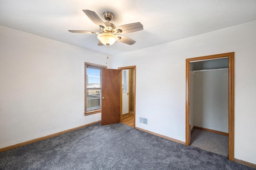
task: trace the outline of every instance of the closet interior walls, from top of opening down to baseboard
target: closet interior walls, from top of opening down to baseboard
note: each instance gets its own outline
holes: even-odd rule
[[[228,59],[190,63],[190,68],[190,129],[228,133]]]

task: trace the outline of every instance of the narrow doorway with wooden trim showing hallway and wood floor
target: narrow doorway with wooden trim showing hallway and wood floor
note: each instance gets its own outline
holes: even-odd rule
[[[120,122],[135,127],[136,66],[119,67],[120,78]]]

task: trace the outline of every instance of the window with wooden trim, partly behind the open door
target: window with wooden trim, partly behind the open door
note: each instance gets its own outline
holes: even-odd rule
[[[101,69],[105,66],[85,63],[85,112],[90,115],[101,112]]]

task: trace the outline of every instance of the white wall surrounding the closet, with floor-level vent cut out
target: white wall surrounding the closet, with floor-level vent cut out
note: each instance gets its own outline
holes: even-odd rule
[[[252,21],[111,56],[111,68],[136,65],[136,127],[185,141],[185,59],[234,51],[234,154],[256,164],[255,30]],[[139,117],[148,118],[148,125],[138,123]]]

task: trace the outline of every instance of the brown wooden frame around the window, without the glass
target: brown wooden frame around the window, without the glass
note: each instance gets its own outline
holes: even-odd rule
[[[92,115],[95,113],[100,113],[101,112],[101,107],[100,109],[92,109],[92,110],[87,110],[87,66],[93,66],[100,68],[107,68],[107,66],[99,65],[99,64],[93,64],[93,63],[84,63],[84,115]],[[100,75],[101,79],[101,75]],[[101,80],[100,80],[100,88],[101,88]]]

